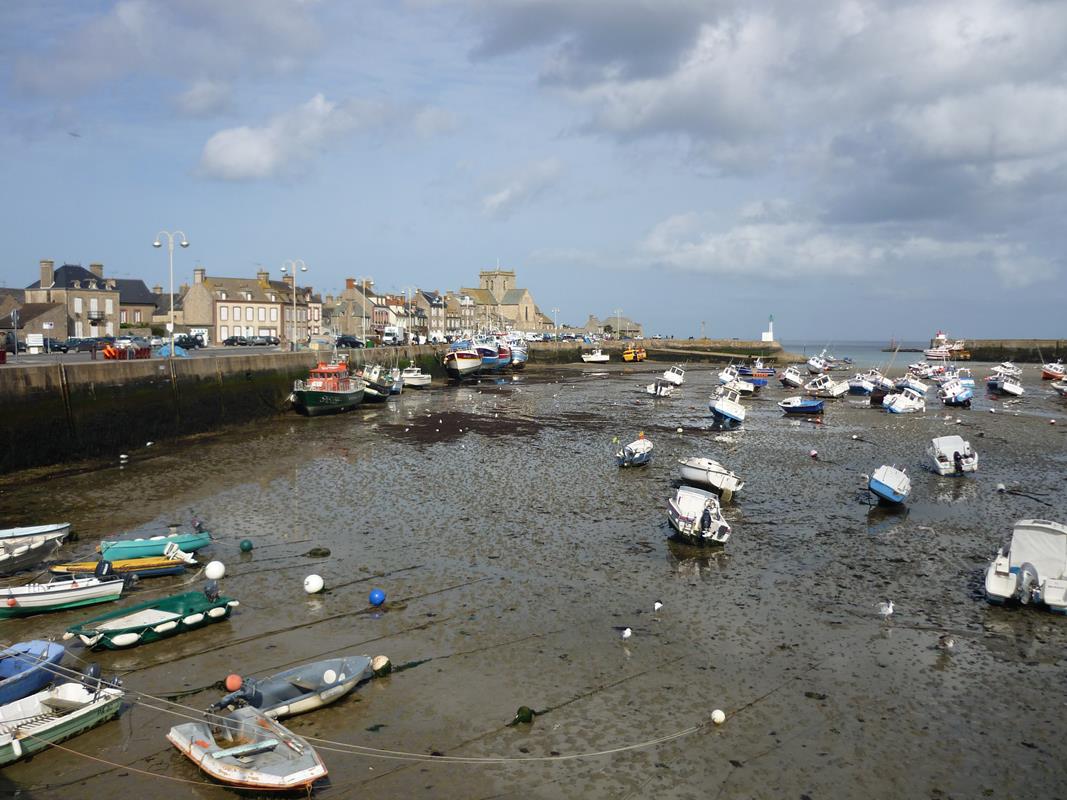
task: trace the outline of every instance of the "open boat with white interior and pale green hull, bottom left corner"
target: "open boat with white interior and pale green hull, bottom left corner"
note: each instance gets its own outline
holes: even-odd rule
[[[51,679],[51,675],[49,675]],[[118,714],[123,691],[90,676],[0,707],[0,766],[96,727]]]

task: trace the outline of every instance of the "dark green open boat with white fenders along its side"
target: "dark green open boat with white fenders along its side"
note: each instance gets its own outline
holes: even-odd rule
[[[63,638],[77,636],[94,650],[133,647],[225,620],[238,605],[230,597],[211,599],[203,592],[174,594],[71,625]]]

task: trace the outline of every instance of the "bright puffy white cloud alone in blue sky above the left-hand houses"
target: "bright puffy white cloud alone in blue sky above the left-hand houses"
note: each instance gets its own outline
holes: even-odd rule
[[[221,180],[291,177],[316,156],[356,133],[388,127],[432,133],[425,122],[420,125],[427,113],[379,100],[333,101],[317,94],[260,127],[220,130],[204,145],[200,172]]]

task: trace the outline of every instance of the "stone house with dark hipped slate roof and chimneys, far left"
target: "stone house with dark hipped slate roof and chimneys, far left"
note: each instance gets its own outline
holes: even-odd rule
[[[120,292],[114,278],[103,277],[103,265],[63,265],[41,261],[41,277],[26,289],[26,303],[58,304],[65,308],[63,330],[52,329],[55,338],[116,336]]]

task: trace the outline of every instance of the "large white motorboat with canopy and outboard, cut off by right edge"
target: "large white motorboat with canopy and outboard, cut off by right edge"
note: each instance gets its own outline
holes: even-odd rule
[[[986,599],[1039,604],[1067,613],[1067,526],[1020,519],[1007,551],[1001,547],[986,567]]]

